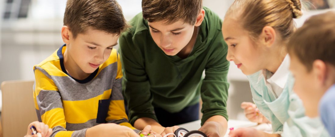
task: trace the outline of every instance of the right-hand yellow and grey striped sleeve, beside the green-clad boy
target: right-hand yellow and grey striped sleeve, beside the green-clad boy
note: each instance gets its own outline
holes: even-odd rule
[[[118,56],[118,71],[117,76],[112,87],[112,99],[109,105],[108,116],[106,121],[108,123],[116,123],[122,126],[127,126],[133,129],[135,132],[139,130],[135,129],[129,122],[125,111],[124,100],[122,95],[122,68],[120,56]]]

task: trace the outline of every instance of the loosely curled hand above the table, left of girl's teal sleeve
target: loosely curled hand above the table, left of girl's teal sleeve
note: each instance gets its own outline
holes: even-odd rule
[[[244,109],[244,114],[247,119],[252,122],[257,123],[271,123],[267,120],[261,112],[259,112],[258,108],[252,102],[242,102],[241,108]]]

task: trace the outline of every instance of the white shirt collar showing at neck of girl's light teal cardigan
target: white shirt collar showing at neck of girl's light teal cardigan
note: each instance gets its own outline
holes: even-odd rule
[[[274,74],[266,69],[263,70],[263,75],[266,80],[265,84],[268,89],[274,93],[276,98],[283,92],[285,87],[289,74],[289,65],[290,57],[287,54]]]

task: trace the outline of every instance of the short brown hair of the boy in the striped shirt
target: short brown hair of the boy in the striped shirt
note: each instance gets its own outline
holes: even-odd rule
[[[68,0],[63,21],[73,38],[87,29],[120,35],[128,27],[116,0]]]

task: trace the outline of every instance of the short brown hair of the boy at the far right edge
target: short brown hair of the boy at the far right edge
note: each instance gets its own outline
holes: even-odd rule
[[[317,59],[335,66],[335,12],[314,15],[292,35],[288,53],[297,57],[308,71]]]

